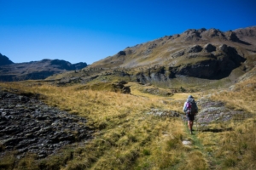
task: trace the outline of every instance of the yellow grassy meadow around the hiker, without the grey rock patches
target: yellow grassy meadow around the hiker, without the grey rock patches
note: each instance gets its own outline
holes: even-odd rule
[[[256,78],[239,82],[233,91],[197,90],[195,99],[211,94],[229,108],[254,114]],[[94,139],[71,144],[55,156],[18,160],[15,151],[0,158],[0,169],[253,169],[256,167],[256,119],[229,122],[232,131],[195,131],[190,135],[180,117],[147,114],[150,109],[172,110],[181,115],[189,94],[164,97],[143,94],[130,82],[131,94],[84,89],[83,85],[57,87],[49,82],[0,83],[2,89],[41,94],[51,106],[83,116],[95,129]],[[9,88],[11,87],[11,88]],[[246,88],[244,88],[246,87]],[[169,89],[168,89],[169,90]],[[18,92],[16,92],[18,93]],[[183,145],[183,140],[191,145]],[[0,149],[1,149],[0,145]]]

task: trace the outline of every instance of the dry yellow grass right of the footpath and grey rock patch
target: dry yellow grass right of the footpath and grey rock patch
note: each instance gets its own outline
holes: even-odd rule
[[[233,129],[230,132],[200,133],[198,139],[214,156],[216,169],[254,169],[256,77],[238,82],[230,89],[213,93],[211,99],[223,101],[232,110],[246,111],[252,117],[243,122],[226,122],[224,126]]]

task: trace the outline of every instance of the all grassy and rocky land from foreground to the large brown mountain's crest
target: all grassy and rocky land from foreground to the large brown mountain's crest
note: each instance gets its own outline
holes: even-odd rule
[[[255,53],[255,27],[188,30],[78,71],[1,82],[0,169],[253,170]]]

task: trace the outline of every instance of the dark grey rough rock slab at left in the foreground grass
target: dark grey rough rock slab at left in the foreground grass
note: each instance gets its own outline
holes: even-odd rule
[[[49,107],[37,95],[0,91],[0,156],[15,150],[20,157],[44,158],[64,145],[92,139],[91,133],[83,117]]]

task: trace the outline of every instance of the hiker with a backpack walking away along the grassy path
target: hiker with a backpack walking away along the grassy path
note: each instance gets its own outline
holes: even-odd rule
[[[198,107],[192,95],[189,95],[189,98],[184,103],[183,111],[186,113],[189,130],[190,130],[190,133],[192,134],[193,122],[195,120],[195,115],[198,112]]]

